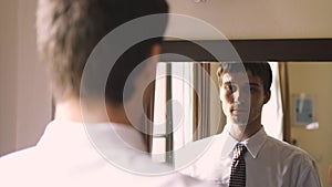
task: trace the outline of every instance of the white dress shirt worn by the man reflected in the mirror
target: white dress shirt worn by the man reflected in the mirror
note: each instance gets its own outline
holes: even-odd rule
[[[228,126],[221,134],[203,139],[211,142],[210,147],[181,173],[228,187],[232,149],[238,142],[227,129]],[[302,149],[268,136],[263,127],[242,144],[248,149],[246,187],[321,186],[313,159]]]

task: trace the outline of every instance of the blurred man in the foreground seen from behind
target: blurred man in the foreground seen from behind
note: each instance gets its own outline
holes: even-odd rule
[[[143,25],[117,38],[123,43],[106,34],[136,18],[167,12],[164,0],[39,0],[38,46],[50,73],[55,120],[37,146],[1,157],[1,186],[206,186],[176,173],[158,176],[172,169],[151,162],[133,127],[139,127],[143,113],[139,83],[154,79],[160,38],[124,50],[110,67],[104,90],[98,90],[98,75],[105,73],[98,64],[114,63],[110,56]],[[143,29],[159,30],[162,35],[167,17],[160,18]],[[97,55],[100,43],[107,46],[103,56]],[[106,64],[100,62],[103,58]],[[127,113],[125,105],[138,110]]]

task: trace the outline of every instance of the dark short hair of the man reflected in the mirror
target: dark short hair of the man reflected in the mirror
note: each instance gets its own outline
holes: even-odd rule
[[[221,62],[217,71],[219,82],[221,74],[250,71],[253,76],[259,76],[262,80],[264,93],[267,94],[272,84],[272,70],[268,62]]]

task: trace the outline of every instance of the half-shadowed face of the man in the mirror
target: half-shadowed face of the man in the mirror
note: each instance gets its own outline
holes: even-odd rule
[[[263,104],[269,100],[259,76],[247,73],[222,73],[220,77],[220,100],[227,123],[250,125],[259,123]]]

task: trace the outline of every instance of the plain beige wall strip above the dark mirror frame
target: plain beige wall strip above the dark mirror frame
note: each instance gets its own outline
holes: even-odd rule
[[[331,0],[168,0],[170,12],[206,21],[227,39],[332,38]],[[216,39],[207,27],[169,21],[166,33]]]

